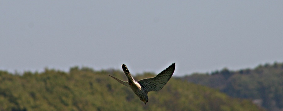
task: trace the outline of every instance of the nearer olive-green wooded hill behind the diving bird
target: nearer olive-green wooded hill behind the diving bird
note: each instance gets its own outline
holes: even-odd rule
[[[130,88],[113,78],[122,71],[73,67],[69,72],[45,69],[23,75],[0,71],[1,111],[264,111],[252,101],[174,77],[144,105]],[[153,77],[137,75],[139,80]]]

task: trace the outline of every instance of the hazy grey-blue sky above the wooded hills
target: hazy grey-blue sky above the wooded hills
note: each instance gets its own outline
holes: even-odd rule
[[[174,75],[283,62],[283,1],[0,1],[0,69]]]

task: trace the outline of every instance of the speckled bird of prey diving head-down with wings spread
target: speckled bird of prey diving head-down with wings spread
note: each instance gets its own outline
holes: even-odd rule
[[[165,70],[163,70],[161,73],[159,73],[153,78],[146,78],[138,81],[134,80],[134,78],[130,74],[130,71],[128,70],[125,64],[122,64],[122,69],[125,75],[127,76],[128,81],[120,80],[111,75],[109,76],[111,76],[121,84],[130,87],[135,92],[135,94],[140,98],[140,100],[144,104],[146,104],[148,102],[147,93],[150,91],[159,91],[160,89],[163,88],[163,86],[169,81],[169,79],[174,73],[175,63],[170,65],[168,68],[166,68]]]

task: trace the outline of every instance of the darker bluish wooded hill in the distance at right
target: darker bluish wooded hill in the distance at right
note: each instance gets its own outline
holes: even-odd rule
[[[232,97],[252,99],[270,111],[283,111],[283,63],[237,71],[224,68],[211,74],[195,73],[181,79],[219,89]]]

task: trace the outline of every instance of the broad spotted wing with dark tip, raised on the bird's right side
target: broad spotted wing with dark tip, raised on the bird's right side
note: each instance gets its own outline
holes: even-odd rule
[[[137,81],[146,92],[159,91],[172,77],[175,70],[175,63],[163,70],[161,73],[153,78],[146,78]]]

